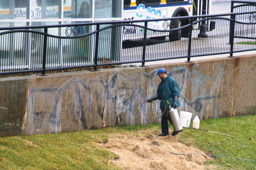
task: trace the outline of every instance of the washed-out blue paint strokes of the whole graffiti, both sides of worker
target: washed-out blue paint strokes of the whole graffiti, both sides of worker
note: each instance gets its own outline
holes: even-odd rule
[[[180,101],[197,113],[199,112],[201,118],[203,117],[204,103],[209,100],[213,100],[212,108],[214,109],[214,117],[216,118],[217,116],[217,99],[214,90],[218,90],[220,87],[220,78],[223,69],[220,66],[215,66],[215,68],[216,76],[214,78],[209,78],[196,71],[196,65],[192,67],[191,71],[188,71],[186,67],[173,68],[168,71],[168,74],[171,74],[179,83],[181,82]],[[153,70],[150,73],[143,73],[143,76],[148,78],[149,81],[146,87],[147,89],[145,89],[145,87],[142,88],[138,84],[140,80],[136,80],[123,72],[112,74],[107,81],[92,78],[84,82],[81,78],[73,77],[66,81],[61,87],[30,89],[28,103],[29,134],[35,134],[35,131],[38,129],[43,131],[45,125],[48,125],[49,132],[60,132],[61,107],[63,107],[63,104],[66,107],[63,109],[68,111],[74,123],[78,124],[81,122],[83,129],[92,128],[92,125],[88,127],[88,121],[90,121],[88,118],[92,117],[92,112],[95,111],[95,108],[92,108],[93,101],[96,102],[96,111],[99,117],[102,121],[106,122],[106,125],[113,125],[113,122],[111,123],[111,114],[115,114],[115,125],[138,124],[136,118],[139,118],[140,124],[147,124],[148,104],[145,101],[146,96],[151,97],[155,95],[154,93],[158,86],[155,82],[156,72],[156,70]],[[192,91],[191,99],[185,96],[188,80],[191,81],[191,89],[194,90]],[[212,85],[209,86],[209,84]],[[97,85],[96,89],[95,85]],[[94,87],[93,90],[92,87]],[[200,88],[199,94],[198,88]],[[70,92],[70,89],[73,91]],[[147,90],[147,94],[145,94],[145,90]],[[51,111],[47,112],[44,109],[39,110],[38,108],[36,108],[35,111],[35,102],[40,100],[40,97],[36,97],[36,95],[44,96],[47,93],[51,94],[55,100],[54,103],[52,103]],[[63,101],[63,96],[66,96],[65,101]],[[70,96],[70,99],[67,98]],[[86,104],[86,106],[84,104]],[[107,108],[108,106],[113,107],[111,110],[106,111],[105,114],[107,115],[104,115],[105,104]],[[159,111],[158,101],[156,102],[156,106],[157,111]],[[138,109],[140,113],[135,113],[136,109]],[[152,109],[154,110],[154,108]],[[113,111],[115,113],[112,113]],[[140,116],[138,116],[138,114],[140,114]],[[40,118],[43,122],[39,121]],[[109,120],[103,120],[104,118],[109,118]]]

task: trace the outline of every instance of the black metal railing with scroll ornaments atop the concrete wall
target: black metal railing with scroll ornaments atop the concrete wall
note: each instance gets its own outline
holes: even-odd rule
[[[156,20],[0,28],[0,74],[131,64],[256,50],[256,11]],[[244,20],[236,20],[244,18]],[[246,19],[247,18],[247,19]],[[207,37],[198,38],[198,23]],[[163,30],[157,29],[159,25]],[[152,29],[156,27],[156,29]],[[81,34],[82,30],[88,30]]]

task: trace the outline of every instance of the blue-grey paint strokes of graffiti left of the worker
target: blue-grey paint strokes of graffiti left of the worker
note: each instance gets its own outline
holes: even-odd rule
[[[118,83],[119,81],[121,83]],[[124,82],[127,83],[127,87],[122,87]],[[131,83],[132,82],[132,83]],[[97,84],[97,87],[100,89],[95,91],[96,102],[97,102],[97,113],[100,118],[103,119],[103,111],[104,111],[104,103],[105,101],[110,102],[111,106],[115,106],[115,114],[116,114],[116,125],[119,124],[135,124],[135,108],[138,106],[140,110],[141,124],[147,124],[147,107],[146,103],[140,103],[136,101],[145,101],[145,92],[141,89],[140,85],[136,83],[131,76],[128,76],[124,73],[114,73],[108,81],[104,81],[103,79],[92,78],[88,80],[86,83],[81,80],[81,78],[70,78],[70,80],[66,81],[60,88],[58,87],[49,87],[49,88],[40,88],[40,89],[30,89],[29,94],[29,134],[35,134],[36,129],[39,128],[40,132],[44,131],[44,125],[49,126],[49,132],[56,133],[61,131],[60,118],[61,118],[61,107],[63,107],[63,93],[66,92],[66,98],[68,97],[68,93],[70,89],[74,90],[74,92],[70,92],[72,95],[72,102],[65,103],[66,110],[71,114],[73,112],[73,121],[77,123],[76,118],[79,118],[79,121],[83,124],[83,129],[88,129],[90,127],[87,126],[87,119],[89,115],[92,115],[92,106],[93,106],[93,96],[92,91],[93,83]],[[120,86],[121,85],[121,86]],[[129,94],[127,94],[127,90]],[[46,93],[53,95],[56,98],[56,101],[52,104],[52,110],[50,115],[48,115],[48,119],[45,122],[41,122],[38,124],[36,120],[38,120],[38,116],[35,113],[35,101],[40,100],[40,97],[36,98],[36,93],[39,96],[44,96]],[[86,94],[84,94],[86,93]],[[86,101],[84,101],[86,100]],[[70,101],[70,99],[65,99],[65,101]],[[88,106],[84,106],[84,103],[89,103]],[[86,108],[89,108],[86,111]],[[42,113],[47,113],[47,111],[42,110]],[[111,114],[111,113],[108,113]],[[47,117],[47,114],[44,114]],[[111,115],[109,115],[111,117]],[[122,122],[122,117],[125,117],[125,120]],[[41,118],[41,117],[40,117]],[[35,124],[36,122],[36,124]],[[107,121],[109,122],[109,121]],[[44,124],[44,125],[43,125]],[[108,124],[107,124],[108,125]],[[109,122],[110,125],[110,122]],[[42,128],[42,129],[40,129]],[[40,133],[39,132],[39,133]]]

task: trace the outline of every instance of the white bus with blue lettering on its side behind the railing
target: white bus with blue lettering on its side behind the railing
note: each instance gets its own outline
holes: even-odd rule
[[[124,0],[123,20],[149,20],[156,18],[171,18],[193,15],[193,2],[191,0]],[[143,24],[143,23],[141,23]],[[156,21],[148,22],[148,28],[156,30],[168,30],[189,24],[189,20],[173,20],[172,22]],[[141,34],[141,31],[133,27],[124,27],[123,36],[129,39],[131,34]],[[172,31],[168,36],[170,41],[188,37],[188,32],[182,30]],[[142,36],[142,35],[141,35]]]

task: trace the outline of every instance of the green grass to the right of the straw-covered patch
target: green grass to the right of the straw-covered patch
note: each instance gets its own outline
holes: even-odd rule
[[[184,129],[179,141],[195,146],[209,155],[220,156],[207,164],[220,169],[256,169],[256,117],[217,118],[200,122],[200,129],[234,136],[230,138],[212,132]]]

